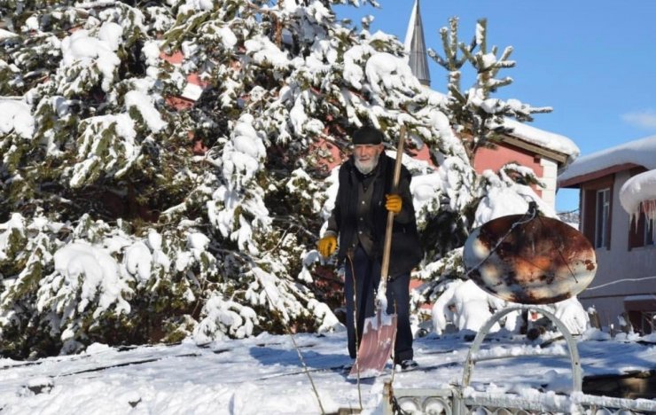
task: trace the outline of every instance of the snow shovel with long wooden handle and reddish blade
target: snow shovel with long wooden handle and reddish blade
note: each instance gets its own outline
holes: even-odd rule
[[[405,142],[405,126],[401,126],[399,145],[396,148],[396,161],[394,163],[394,181],[392,189],[396,190],[401,177],[401,159],[403,144]],[[348,373],[349,379],[373,378],[378,376],[385,367],[387,359],[392,353],[396,338],[396,314],[387,314],[387,272],[389,270],[389,252],[392,247],[392,225],[394,213],[387,212],[387,225],[385,228],[385,245],[383,246],[383,262],[380,265],[380,283],[376,294],[376,314],[364,319],[363,333],[360,347],[355,356],[355,364]]]

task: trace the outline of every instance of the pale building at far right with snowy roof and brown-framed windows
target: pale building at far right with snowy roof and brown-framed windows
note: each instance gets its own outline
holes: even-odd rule
[[[626,312],[640,333],[656,328],[654,215],[641,211],[649,203],[627,212],[621,190],[654,168],[656,136],[583,156],[558,176],[560,188],[580,190],[580,230],[597,254],[597,275],[579,300],[597,309],[602,325],[621,325]]]

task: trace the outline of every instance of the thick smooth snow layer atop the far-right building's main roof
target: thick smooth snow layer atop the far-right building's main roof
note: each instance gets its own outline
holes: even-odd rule
[[[558,176],[558,183],[572,182],[576,177],[626,164],[636,164],[648,169],[656,168],[656,136],[641,138],[583,156]]]

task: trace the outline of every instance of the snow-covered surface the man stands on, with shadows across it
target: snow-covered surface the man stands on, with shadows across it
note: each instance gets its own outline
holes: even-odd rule
[[[578,343],[583,376],[656,369],[656,337],[629,341],[602,334],[590,330]],[[528,356],[479,362],[472,387],[519,395],[535,394],[538,389],[567,393],[572,377],[565,343],[554,341],[541,348],[541,342],[490,334],[480,353]],[[395,372],[393,387],[449,388],[460,383],[470,346],[471,342],[453,334],[418,339],[415,353],[421,369]],[[546,356],[550,352],[563,356]],[[360,408],[362,400],[363,413],[381,413],[384,381],[392,379],[392,373],[361,380],[358,391],[358,382],[349,380],[343,369],[349,364],[343,332],[293,338],[262,334],[202,348],[191,341],[123,350],[94,344],[74,356],[33,362],[1,359],[0,412],[315,414],[322,409],[334,413]],[[656,400],[649,402],[656,411]]]

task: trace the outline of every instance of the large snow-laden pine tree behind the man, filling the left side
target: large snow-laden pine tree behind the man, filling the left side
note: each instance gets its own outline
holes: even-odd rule
[[[363,2],[3,9],[5,355],[337,324],[313,294],[322,145],[370,122],[393,146],[404,123],[436,157],[465,154],[402,44],[340,24],[345,3]],[[191,75],[207,88],[176,110]]]

